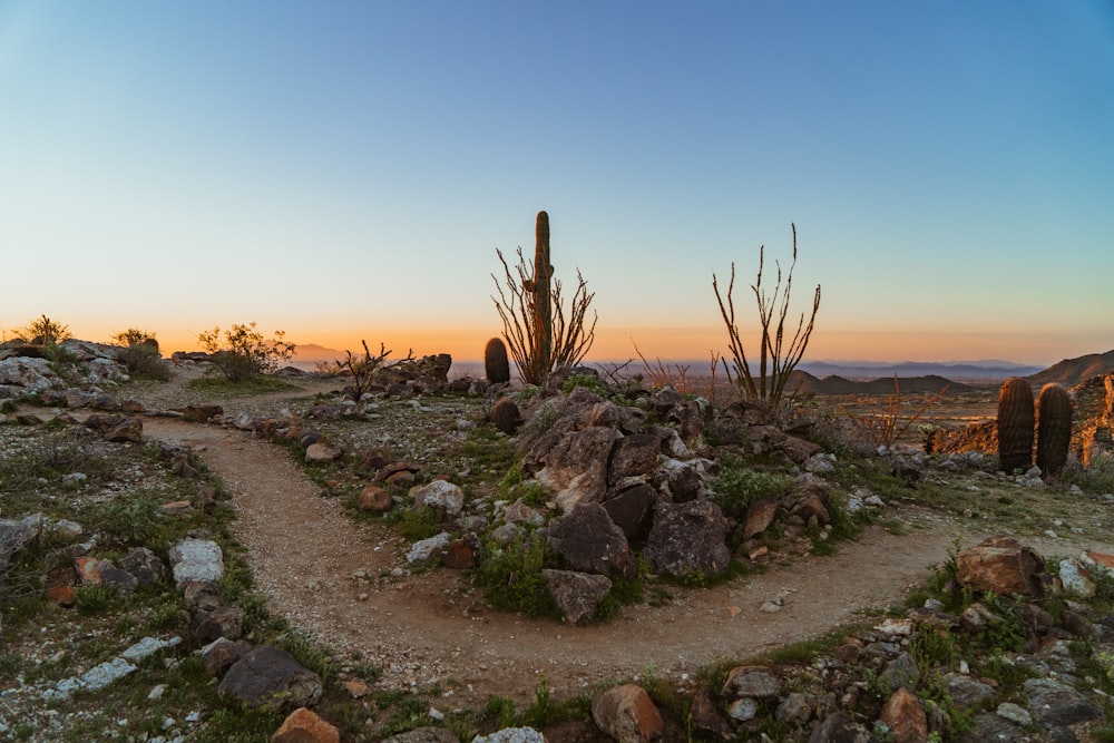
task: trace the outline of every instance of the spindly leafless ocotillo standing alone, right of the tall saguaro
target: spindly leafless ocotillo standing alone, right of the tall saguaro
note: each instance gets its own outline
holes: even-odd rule
[[[765,246],[759,248],[759,273],[755,283],[751,284],[754,299],[758,303],[759,324],[761,335],[759,338],[759,369],[755,379],[754,371],[746,359],[743,348],[742,336],[739,332],[739,323],[735,321],[735,304],[732,293],[735,289],[735,264],[731,264],[731,282],[727,284],[726,304],[724,296],[720,293],[720,285],[715,274],[712,274],[712,289],[715,292],[716,302],[720,304],[720,315],[727,326],[727,339],[734,366],[734,378],[731,369],[724,360],[723,368],[727,372],[727,379],[740,388],[745,395],[752,400],[780,400],[785,393],[785,384],[789,375],[797,364],[804,356],[804,350],[809,345],[812,335],[812,327],[820,311],[820,284],[817,284],[815,293],[812,297],[812,314],[809,316],[809,324],[804,324],[804,314],[797,324],[789,346],[784,346],[785,320],[789,315],[790,295],[793,289],[793,268],[797,266],[797,225],[793,227],[793,262],[785,274],[784,293],[782,293],[781,265],[778,264],[778,283],[774,285],[773,295],[766,296],[762,289],[762,272],[765,260]],[[778,295],[781,294],[781,304],[778,305]],[[776,325],[774,326],[774,320]]]

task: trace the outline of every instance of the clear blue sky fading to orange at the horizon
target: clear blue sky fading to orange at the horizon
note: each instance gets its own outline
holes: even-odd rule
[[[0,2],[4,338],[479,359],[539,209],[589,361],[726,352],[733,263],[756,350],[792,225],[807,359],[1108,351],[1114,3]]]

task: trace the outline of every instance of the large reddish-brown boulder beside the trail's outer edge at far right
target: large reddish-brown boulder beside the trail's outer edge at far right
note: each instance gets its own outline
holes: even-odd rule
[[[1047,593],[1044,559],[1009,537],[991,537],[960,551],[956,556],[956,579],[961,586],[1003,596],[1043,598]]]

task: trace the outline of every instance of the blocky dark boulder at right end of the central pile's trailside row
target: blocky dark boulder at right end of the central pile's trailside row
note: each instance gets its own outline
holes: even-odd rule
[[[731,564],[729,531],[727,520],[715,504],[658,501],[643,556],[654,569],[674,576],[715,576]]]

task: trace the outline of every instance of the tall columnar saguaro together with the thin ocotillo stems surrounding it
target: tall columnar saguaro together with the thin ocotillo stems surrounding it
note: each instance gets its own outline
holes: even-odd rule
[[[565,316],[561,283],[554,281],[549,264],[549,215],[538,212],[537,244],[532,263],[527,264],[518,250],[515,274],[496,250],[502,264],[506,291],[491,274],[499,296],[491,297],[502,320],[504,338],[527,384],[545,384],[558,366],[571,366],[587,355],[595,341],[596,317],[585,325],[595,294],[588,292],[584,276],[577,271],[578,285],[573,295],[568,317]]]

